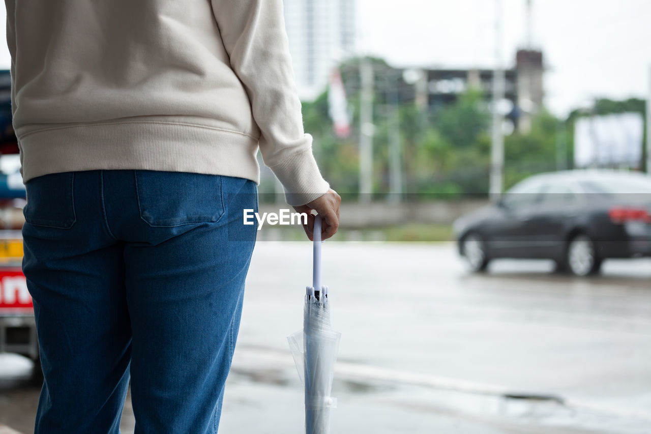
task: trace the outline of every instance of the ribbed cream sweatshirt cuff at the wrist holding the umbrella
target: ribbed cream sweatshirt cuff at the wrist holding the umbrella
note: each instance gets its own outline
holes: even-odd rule
[[[312,148],[292,155],[270,169],[283,184],[287,204],[294,207],[321,197],[330,188],[321,176]]]

